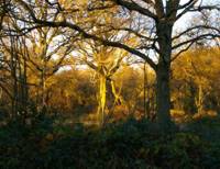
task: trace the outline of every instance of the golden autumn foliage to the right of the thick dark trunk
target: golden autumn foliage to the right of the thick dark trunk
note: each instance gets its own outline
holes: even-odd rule
[[[219,48],[195,48],[173,65],[173,101],[188,113],[219,110]]]

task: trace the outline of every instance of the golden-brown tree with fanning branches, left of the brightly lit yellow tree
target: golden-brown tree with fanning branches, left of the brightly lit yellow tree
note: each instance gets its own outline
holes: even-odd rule
[[[37,29],[29,34],[29,65],[34,70],[40,109],[46,110],[47,84],[46,81],[59,70],[70,53],[69,38],[63,35],[61,29]],[[59,40],[57,37],[59,36]],[[62,37],[61,37],[62,36]]]

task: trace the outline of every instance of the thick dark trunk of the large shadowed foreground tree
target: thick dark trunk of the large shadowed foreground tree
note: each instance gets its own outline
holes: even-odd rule
[[[156,69],[156,113],[157,121],[164,132],[172,131],[169,71],[172,57],[173,24],[157,23],[160,59]]]

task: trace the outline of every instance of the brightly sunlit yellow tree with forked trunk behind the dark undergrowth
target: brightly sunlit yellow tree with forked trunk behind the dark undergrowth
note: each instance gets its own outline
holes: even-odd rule
[[[79,45],[80,46],[80,45]],[[98,117],[101,125],[107,121],[106,114],[107,106],[107,84],[111,84],[111,92],[114,97],[113,106],[117,103],[122,103],[122,98],[116,89],[116,81],[113,80],[114,74],[122,65],[123,58],[128,55],[122,49],[116,49],[112,47],[100,46],[94,43],[87,43],[86,46],[81,46],[79,52],[82,54],[81,61],[88,67],[95,70],[99,79],[99,93],[98,93]]]

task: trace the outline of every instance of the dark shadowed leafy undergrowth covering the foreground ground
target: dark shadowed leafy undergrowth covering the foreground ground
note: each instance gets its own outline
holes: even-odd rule
[[[164,134],[147,120],[62,125],[41,116],[34,125],[0,127],[1,169],[220,168],[220,116],[180,124]]]

